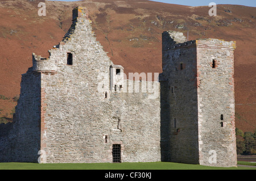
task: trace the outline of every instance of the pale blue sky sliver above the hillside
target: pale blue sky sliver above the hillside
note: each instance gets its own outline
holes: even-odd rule
[[[50,0],[50,1],[53,1],[53,0]],[[75,0],[57,0],[57,1],[75,1]],[[244,6],[256,7],[256,1],[255,0],[210,0],[210,1],[205,1],[205,0],[198,0],[198,1],[191,1],[191,0],[155,0],[155,1],[156,2],[177,4],[177,5],[187,5],[187,6],[208,6],[210,2],[214,2],[217,5],[218,4],[230,4],[230,5],[244,5]]]

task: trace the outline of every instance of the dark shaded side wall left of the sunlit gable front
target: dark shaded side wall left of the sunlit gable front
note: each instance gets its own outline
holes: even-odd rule
[[[0,125],[1,162],[37,162],[40,150],[40,74],[22,75],[13,123]],[[5,134],[2,134],[5,133]]]

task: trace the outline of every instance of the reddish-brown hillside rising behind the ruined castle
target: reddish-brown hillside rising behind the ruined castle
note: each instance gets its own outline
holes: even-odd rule
[[[98,41],[114,64],[125,72],[162,72],[162,32],[183,32],[189,40],[217,38],[237,42],[235,50],[236,126],[256,128],[256,8],[217,5],[189,7],[146,0],[46,1],[46,16],[38,16],[43,1],[0,1],[0,117],[11,117],[20,93],[21,74],[32,66],[32,52],[48,57],[71,26],[72,9],[86,7]],[[9,99],[3,99],[5,98]]]

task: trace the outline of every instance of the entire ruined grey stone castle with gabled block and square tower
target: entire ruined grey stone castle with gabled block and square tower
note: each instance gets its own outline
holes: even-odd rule
[[[0,162],[236,166],[233,41],[164,32],[159,81],[132,81],[87,10],[72,21],[48,58],[32,54],[14,121],[0,125]]]

